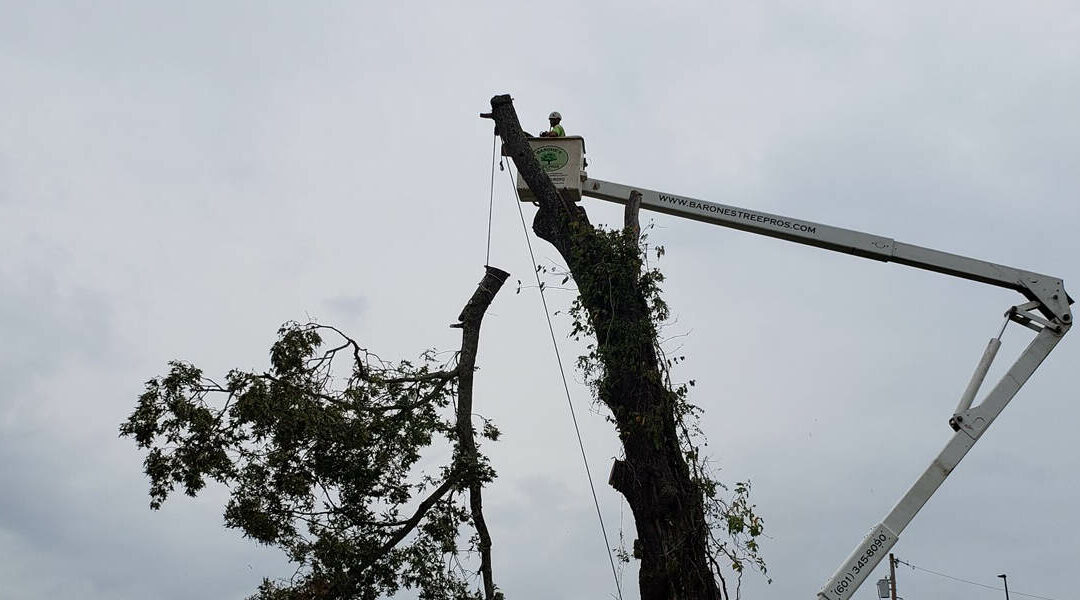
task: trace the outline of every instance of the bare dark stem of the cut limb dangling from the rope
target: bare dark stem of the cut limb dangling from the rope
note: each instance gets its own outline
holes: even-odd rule
[[[484,313],[490,305],[499,288],[510,276],[510,273],[486,267],[484,278],[476,286],[465,308],[458,316],[461,328],[461,355],[458,359],[458,408],[457,408],[457,432],[458,432],[458,455],[457,463],[465,469],[469,481],[469,507],[472,512],[473,526],[476,528],[476,536],[480,546],[480,570],[484,578],[484,598],[495,600],[495,579],[491,575],[491,535],[487,530],[487,522],[484,520],[483,500],[481,490],[483,481],[477,472],[478,453],[476,451],[476,434],[472,425],[472,388],[473,372],[476,369],[476,350],[480,345],[480,325],[484,318]]]

